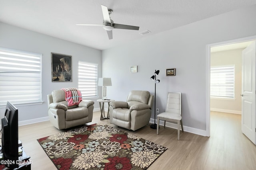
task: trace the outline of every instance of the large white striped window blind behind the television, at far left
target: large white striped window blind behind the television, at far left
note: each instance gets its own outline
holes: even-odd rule
[[[0,47],[0,106],[42,102],[42,54]]]

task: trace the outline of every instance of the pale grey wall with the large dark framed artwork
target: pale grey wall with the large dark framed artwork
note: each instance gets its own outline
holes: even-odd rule
[[[42,98],[44,103],[33,106],[18,106],[19,123],[26,124],[48,119],[47,94],[54,89],[78,87],[78,61],[98,63],[101,77],[101,51],[43,35],[6,23],[0,22],[0,47],[42,53]],[[51,52],[72,56],[72,82],[52,82]],[[101,91],[100,91],[101,92]],[[101,95],[100,95],[101,96]],[[96,99],[94,108],[99,108]],[[4,116],[4,108],[0,108],[0,117]]]

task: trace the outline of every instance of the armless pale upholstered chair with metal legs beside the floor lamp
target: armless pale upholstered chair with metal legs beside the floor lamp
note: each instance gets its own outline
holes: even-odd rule
[[[182,117],[181,117],[181,93],[168,92],[166,110],[164,113],[160,113],[159,115],[157,115],[157,129],[156,129],[157,135],[159,132],[160,119],[164,120],[164,127],[165,127],[166,121],[177,123],[178,140],[180,140],[180,125],[181,125],[182,132],[184,132]]]

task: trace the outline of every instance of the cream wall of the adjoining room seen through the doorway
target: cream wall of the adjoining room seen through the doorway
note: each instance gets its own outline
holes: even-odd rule
[[[235,49],[211,53],[211,66],[234,65],[235,68],[235,86],[234,99],[211,98],[210,108],[212,111],[222,111],[227,113],[238,113],[242,111],[242,51],[244,49]]]

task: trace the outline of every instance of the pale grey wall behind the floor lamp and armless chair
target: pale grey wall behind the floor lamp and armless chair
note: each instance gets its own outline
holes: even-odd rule
[[[186,131],[204,134],[206,69],[210,68],[206,65],[206,46],[256,35],[255,16],[256,6],[251,6],[102,51],[102,76],[112,78],[108,98],[126,100],[130,90],[154,94],[150,77],[159,69],[156,107],[164,111],[167,92],[182,92]],[[138,65],[138,73],[129,72],[133,65]],[[166,68],[176,68],[176,76],[165,76]]]

